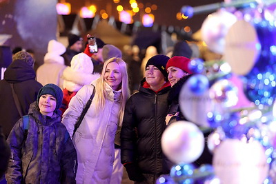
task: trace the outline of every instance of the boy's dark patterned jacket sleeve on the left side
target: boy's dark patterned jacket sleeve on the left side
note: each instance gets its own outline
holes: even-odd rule
[[[6,180],[8,183],[21,183],[22,176],[22,161],[21,161],[21,145],[23,144],[23,123],[19,119],[12,128],[8,136],[7,143],[10,145],[11,156],[6,172]]]

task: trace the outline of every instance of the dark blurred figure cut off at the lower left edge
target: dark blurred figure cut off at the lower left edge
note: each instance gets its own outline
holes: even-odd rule
[[[2,127],[0,126],[0,183],[3,181],[3,174],[5,174],[8,168],[8,161],[10,159],[10,146],[6,142],[5,135],[2,132]]]

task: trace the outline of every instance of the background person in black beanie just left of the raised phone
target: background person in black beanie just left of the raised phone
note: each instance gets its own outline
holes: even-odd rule
[[[72,58],[83,51],[83,39],[76,34],[68,34],[68,47],[66,48],[66,55],[68,63],[65,65],[70,66]]]

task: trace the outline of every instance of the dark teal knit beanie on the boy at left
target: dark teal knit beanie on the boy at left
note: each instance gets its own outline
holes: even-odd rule
[[[44,85],[40,90],[39,94],[37,94],[37,105],[39,104],[39,98],[43,94],[51,94],[54,96],[57,100],[57,106],[55,108],[55,112],[61,107],[62,99],[63,99],[63,92],[59,86],[53,84],[53,83],[48,83]]]

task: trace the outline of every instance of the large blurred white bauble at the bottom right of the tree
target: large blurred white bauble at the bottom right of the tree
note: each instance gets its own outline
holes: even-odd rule
[[[260,184],[268,176],[266,160],[264,147],[259,142],[226,139],[215,149],[213,167],[221,183]]]

